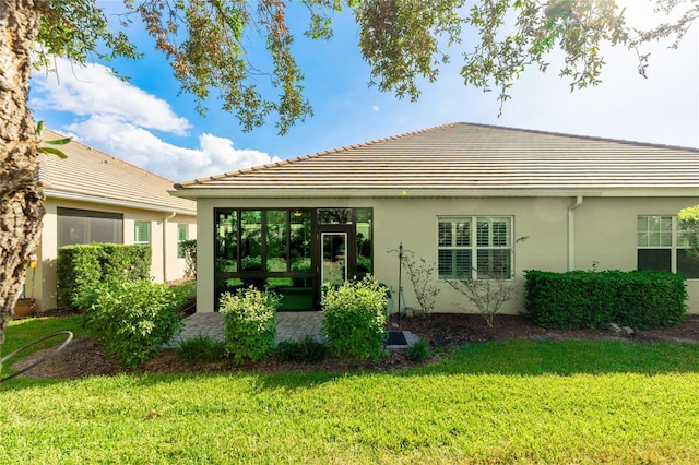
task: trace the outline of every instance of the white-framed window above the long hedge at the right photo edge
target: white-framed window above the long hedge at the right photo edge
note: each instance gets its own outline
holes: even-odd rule
[[[679,272],[699,278],[699,262],[689,254],[676,216],[639,216],[637,236],[638,270]]]

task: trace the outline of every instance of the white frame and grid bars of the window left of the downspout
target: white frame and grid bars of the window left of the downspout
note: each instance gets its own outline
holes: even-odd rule
[[[494,224],[498,220],[506,223],[506,243],[501,245],[502,236],[498,234],[498,230],[494,228]],[[486,222],[487,237],[484,243],[483,225]],[[451,231],[446,231],[442,228],[445,223],[451,224]],[[463,229],[463,226],[467,224],[467,230]],[[451,274],[447,276],[440,271],[440,252],[448,251],[467,251],[469,262],[471,265],[470,277],[474,281],[488,281],[488,279],[502,279],[512,281],[514,278],[514,216],[513,215],[440,215],[437,216],[437,281],[459,279],[459,263],[458,258],[452,258]],[[451,243],[445,243],[445,240],[449,239]],[[499,239],[499,240],[498,240]],[[478,258],[483,257],[478,252],[483,251],[497,251],[506,250],[507,259],[507,277],[497,277],[493,273],[481,272],[478,273]],[[482,259],[483,260],[483,259]],[[493,257],[488,258],[488,267],[493,269]]]

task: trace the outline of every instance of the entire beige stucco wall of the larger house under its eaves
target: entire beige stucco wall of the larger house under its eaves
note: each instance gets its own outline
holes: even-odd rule
[[[437,262],[437,218],[439,216],[512,217],[513,271],[516,297],[503,313],[523,310],[525,270],[565,272],[568,270],[635,270],[637,266],[637,217],[676,215],[698,198],[401,198],[375,199],[199,199],[198,200],[198,311],[214,311],[213,210],[215,207],[372,207],[374,274],[379,282],[398,288],[399,262],[395,253],[402,243],[415,258]],[[569,238],[569,217],[573,234]],[[570,243],[569,243],[570,242]],[[408,307],[417,307],[412,285],[403,270],[402,284]],[[474,308],[458,291],[437,282],[440,294],[436,311],[473,312]],[[699,279],[687,282],[689,312],[699,313]]]

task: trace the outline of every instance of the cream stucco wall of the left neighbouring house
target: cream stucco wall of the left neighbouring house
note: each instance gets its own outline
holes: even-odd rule
[[[175,215],[164,212],[146,212],[75,201],[47,199],[46,215],[42,226],[40,247],[37,251],[36,269],[27,269],[25,295],[37,299],[37,310],[57,306],[56,260],[58,258],[58,207],[90,210],[123,214],[123,243],[133,243],[134,223],[149,222],[152,248],[151,275],[155,282],[181,279],[185,275],[185,260],[177,258],[177,225],[186,224],[188,238],[197,238],[197,218],[193,215]]]

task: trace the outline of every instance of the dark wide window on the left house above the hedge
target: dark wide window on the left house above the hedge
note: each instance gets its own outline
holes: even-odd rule
[[[120,213],[58,207],[58,247],[75,243],[123,243]]]

